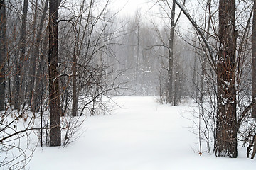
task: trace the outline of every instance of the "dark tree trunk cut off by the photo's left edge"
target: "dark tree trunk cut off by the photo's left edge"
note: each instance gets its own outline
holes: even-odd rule
[[[6,9],[0,1],[0,111],[5,108]]]

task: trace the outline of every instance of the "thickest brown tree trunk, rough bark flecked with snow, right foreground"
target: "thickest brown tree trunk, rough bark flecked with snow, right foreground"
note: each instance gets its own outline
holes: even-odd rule
[[[237,118],[235,88],[235,0],[219,2],[220,47],[217,65],[216,156],[237,157]]]

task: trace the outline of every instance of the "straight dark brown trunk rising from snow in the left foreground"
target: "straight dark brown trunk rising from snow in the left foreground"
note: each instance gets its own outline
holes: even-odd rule
[[[50,99],[50,146],[60,146],[60,89],[58,72],[58,1],[49,3],[49,99]]]

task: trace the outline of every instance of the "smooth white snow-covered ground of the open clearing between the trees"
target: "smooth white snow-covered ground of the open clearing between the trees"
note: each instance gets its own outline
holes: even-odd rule
[[[153,97],[117,97],[112,115],[87,118],[83,135],[68,147],[38,147],[31,170],[255,169],[256,160],[198,154],[188,131],[188,106],[159,105]],[[243,152],[240,152],[243,153]]]

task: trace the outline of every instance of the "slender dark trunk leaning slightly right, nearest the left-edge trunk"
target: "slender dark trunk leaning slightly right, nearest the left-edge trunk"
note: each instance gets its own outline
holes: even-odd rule
[[[28,13],[28,0],[24,0],[23,4],[23,13],[22,13],[22,20],[21,20],[21,38],[19,41],[19,57],[17,59],[17,72],[16,72],[16,80],[15,80],[15,101],[14,101],[14,109],[19,111],[21,106],[21,94],[23,92],[22,89],[22,81],[23,81],[23,63],[26,60],[26,23],[27,23],[27,13]]]

